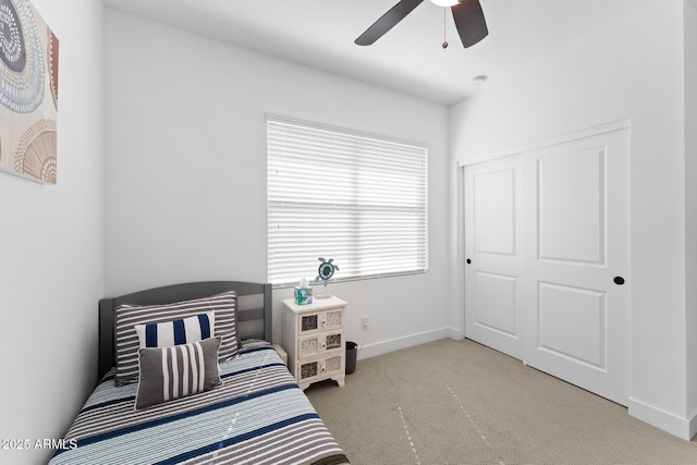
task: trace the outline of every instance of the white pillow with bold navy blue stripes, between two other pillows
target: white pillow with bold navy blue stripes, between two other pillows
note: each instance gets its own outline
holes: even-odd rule
[[[140,347],[169,347],[203,341],[216,333],[216,313],[194,315],[174,321],[136,325]]]

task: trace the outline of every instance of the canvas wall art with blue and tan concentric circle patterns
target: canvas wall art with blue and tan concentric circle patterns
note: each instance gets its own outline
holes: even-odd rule
[[[0,0],[0,170],[57,183],[58,38],[28,0]]]

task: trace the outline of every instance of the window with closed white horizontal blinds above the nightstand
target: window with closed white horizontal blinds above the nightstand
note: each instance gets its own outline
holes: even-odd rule
[[[427,150],[268,119],[268,259],[276,285],[425,272]]]

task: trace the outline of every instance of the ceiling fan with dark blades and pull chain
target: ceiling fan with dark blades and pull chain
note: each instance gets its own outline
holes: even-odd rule
[[[369,46],[382,37],[388,30],[404,20],[424,0],[401,0],[384,13],[378,21],[368,27],[365,33],[355,40],[359,46]],[[487,22],[484,19],[484,11],[479,0],[430,0],[439,7],[450,7],[455,20],[455,27],[462,40],[462,45],[467,48],[487,37]],[[443,42],[443,48],[448,42]]]

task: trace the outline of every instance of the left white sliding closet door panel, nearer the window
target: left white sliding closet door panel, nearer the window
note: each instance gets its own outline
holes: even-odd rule
[[[465,335],[522,358],[518,160],[465,168]]]

